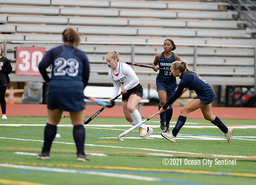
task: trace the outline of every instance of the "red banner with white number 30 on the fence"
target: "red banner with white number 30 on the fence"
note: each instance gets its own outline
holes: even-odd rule
[[[45,54],[45,47],[16,48],[16,76],[42,77],[38,64]]]

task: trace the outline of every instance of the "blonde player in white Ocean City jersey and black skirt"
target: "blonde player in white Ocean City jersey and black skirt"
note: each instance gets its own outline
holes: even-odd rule
[[[108,76],[114,85],[113,94],[108,103],[111,103],[118,95],[119,88],[121,88],[123,113],[126,120],[133,126],[141,123],[142,118],[136,106],[143,97],[143,88],[138,76],[128,64],[119,62],[120,57],[117,51],[109,52],[106,55],[106,61],[110,67]],[[138,128],[141,139],[148,139],[153,132],[153,129],[145,124]]]

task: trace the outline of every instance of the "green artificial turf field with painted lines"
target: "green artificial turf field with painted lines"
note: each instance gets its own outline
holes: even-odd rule
[[[95,118],[85,125],[85,152],[89,162],[76,161],[70,118],[62,118],[59,123],[57,133],[61,137],[54,139],[51,159],[39,160],[36,155],[43,146],[46,121],[46,117],[8,117],[0,123],[0,184],[240,185],[256,182],[255,120],[222,120],[228,127],[234,127],[233,139],[227,144],[223,133],[204,119],[187,119],[173,143],[160,135],[159,119],[152,118],[145,123],[153,128],[151,139],[135,139],[139,138],[135,130],[124,136],[124,141],[119,141],[118,135],[131,127],[125,119]],[[175,122],[176,119],[171,120],[170,131]],[[235,164],[219,165],[221,160],[233,160]],[[166,162],[167,165],[163,164]]]

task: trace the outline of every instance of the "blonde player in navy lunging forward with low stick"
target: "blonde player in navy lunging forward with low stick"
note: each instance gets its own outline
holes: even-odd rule
[[[161,135],[172,142],[176,142],[176,136],[185,124],[187,114],[200,108],[204,119],[209,120],[223,131],[227,139],[227,143],[229,143],[232,139],[234,128],[227,128],[217,116],[212,114],[211,103],[217,98],[212,87],[204,79],[199,77],[198,72],[188,69],[186,61],[173,62],[171,72],[175,77],[180,77],[181,81],[175,93],[170,97],[165,105],[160,108],[159,113],[167,110],[171,103],[181,96],[184,88],[194,90],[197,96],[190,103],[182,107],[181,114],[178,117],[174,129],[169,133],[161,133]]]

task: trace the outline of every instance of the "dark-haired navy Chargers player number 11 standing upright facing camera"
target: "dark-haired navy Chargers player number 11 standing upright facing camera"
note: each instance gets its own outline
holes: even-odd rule
[[[176,49],[174,41],[171,39],[166,39],[164,41],[164,51],[155,56],[153,63],[154,71],[158,71],[158,68],[164,68],[171,70],[172,62],[178,60],[180,57],[176,55],[173,50]],[[159,66],[157,66],[159,65]],[[158,110],[166,103],[167,100],[174,94],[175,89],[177,88],[176,78],[169,71],[159,70],[159,74],[156,77],[156,91],[160,99]],[[169,124],[172,118],[172,105],[170,109],[160,114],[160,128],[164,132],[169,132]]]

